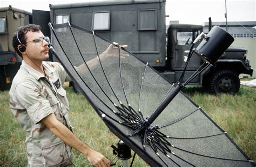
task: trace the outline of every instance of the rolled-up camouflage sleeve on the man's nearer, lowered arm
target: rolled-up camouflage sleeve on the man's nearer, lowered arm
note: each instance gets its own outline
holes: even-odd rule
[[[53,113],[49,101],[36,85],[20,83],[16,87],[14,96],[15,101],[26,108],[34,124],[38,124],[42,119]]]

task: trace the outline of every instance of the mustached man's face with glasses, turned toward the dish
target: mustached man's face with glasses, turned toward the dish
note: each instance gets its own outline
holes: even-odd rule
[[[28,31],[26,34],[26,54],[29,56],[29,58],[32,61],[43,61],[49,58],[49,47],[48,44],[45,40],[43,40],[42,45],[36,45],[35,39],[36,38],[43,38],[44,34],[41,31]]]

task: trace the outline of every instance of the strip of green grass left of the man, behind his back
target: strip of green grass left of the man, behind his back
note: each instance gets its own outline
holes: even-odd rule
[[[25,132],[9,109],[7,91],[0,101],[0,166],[26,166]]]

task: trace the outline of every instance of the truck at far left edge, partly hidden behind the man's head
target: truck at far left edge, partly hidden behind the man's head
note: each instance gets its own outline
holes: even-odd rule
[[[0,90],[9,89],[22,59],[12,47],[12,35],[19,26],[32,23],[32,13],[12,8],[0,8]]]

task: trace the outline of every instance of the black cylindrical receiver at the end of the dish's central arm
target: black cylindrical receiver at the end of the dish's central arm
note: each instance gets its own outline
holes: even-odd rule
[[[203,39],[196,49],[193,49],[197,55],[204,61],[215,66],[215,62],[234,41],[232,35],[219,26],[214,26]]]

